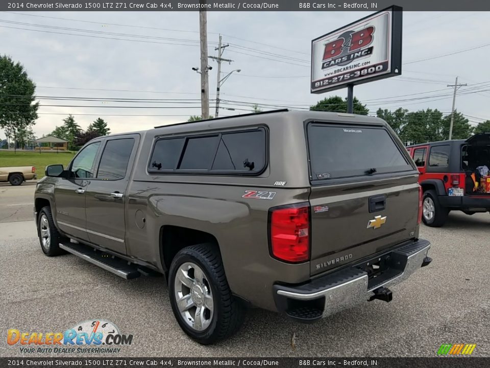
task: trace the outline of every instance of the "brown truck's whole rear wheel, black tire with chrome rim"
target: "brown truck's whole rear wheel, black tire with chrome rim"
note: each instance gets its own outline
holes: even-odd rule
[[[223,340],[243,323],[245,308],[231,293],[214,244],[192,245],[177,253],[170,265],[168,294],[180,327],[201,344]]]

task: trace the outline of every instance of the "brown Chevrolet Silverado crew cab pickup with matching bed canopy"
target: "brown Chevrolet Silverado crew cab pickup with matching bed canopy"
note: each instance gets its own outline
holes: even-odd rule
[[[96,138],[46,168],[34,216],[47,256],[164,274],[180,327],[210,344],[245,306],[310,323],[391,301],[431,262],[418,177],[381,119],[267,111]]]

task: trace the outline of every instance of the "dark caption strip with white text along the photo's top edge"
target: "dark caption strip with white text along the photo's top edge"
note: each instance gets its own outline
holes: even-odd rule
[[[379,11],[391,5],[404,11],[487,11],[486,0],[19,0],[0,2],[0,11]]]

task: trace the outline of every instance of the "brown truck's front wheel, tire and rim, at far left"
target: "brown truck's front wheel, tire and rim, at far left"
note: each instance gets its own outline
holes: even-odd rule
[[[68,241],[55,226],[50,206],[45,206],[39,211],[37,218],[37,234],[43,253],[48,257],[59,256],[66,252],[60,248],[62,241]]]

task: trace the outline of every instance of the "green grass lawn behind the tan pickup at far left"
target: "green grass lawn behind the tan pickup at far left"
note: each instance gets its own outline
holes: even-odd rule
[[[37,178],[44,176],[47,165],[62,164],[65,168],[73,158],[72,152],[23,152],[0,151],[0,167],[35,166]]]

